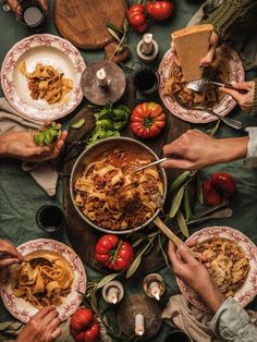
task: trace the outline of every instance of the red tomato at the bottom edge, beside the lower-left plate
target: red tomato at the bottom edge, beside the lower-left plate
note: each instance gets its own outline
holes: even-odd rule
[[[76,342],[95,342],[100,332],[99,323],[89,308],[78,308],[72,315],[70,328]]]

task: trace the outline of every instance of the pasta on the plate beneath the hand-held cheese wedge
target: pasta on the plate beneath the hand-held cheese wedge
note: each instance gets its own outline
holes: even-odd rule
[[[228,72],[222,65],[219,59],[208,68],[208,78],[227,83]],[[183,81],[182,70],[175,63],[171,66],[170,77],[166,81],[163,94],[166,96],[176,95],[183,103],[186,106],[204,106],[212,109],[217,103],[220,102],[224,96],[216,85],[207,84],[203,91],[197,93],[186,87],[187,83]]]

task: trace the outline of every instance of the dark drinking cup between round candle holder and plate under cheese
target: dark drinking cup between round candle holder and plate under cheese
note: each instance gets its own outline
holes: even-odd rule
[[[157,91],[160,84],[160,76],[158,72],[151,69],[142,68],[135,72],[133,83],[139,93],[149,95]]]

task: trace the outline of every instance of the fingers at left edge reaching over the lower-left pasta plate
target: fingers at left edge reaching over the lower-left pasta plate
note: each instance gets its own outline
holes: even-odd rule
[[[23,256],[8,241],[0,240],[0,268],[23,261]]]

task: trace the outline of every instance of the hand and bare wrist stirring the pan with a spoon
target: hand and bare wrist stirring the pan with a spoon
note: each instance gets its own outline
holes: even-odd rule
[[[198,170],[220,162],[244,158],[248,136],[216,139],[201,131],[188,130],[178,139],[163,146],[166,157],[178,156],[161,163],[163,168]]]

